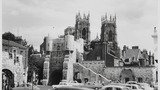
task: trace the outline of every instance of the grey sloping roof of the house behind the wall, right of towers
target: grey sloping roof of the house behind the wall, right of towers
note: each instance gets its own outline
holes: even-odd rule
[[[140,56],[140,57],[139,57]],[[127,49],[126,50],[126,55],[125,55],[125,59],[128,59],[128,58],[132,58],[132,57],[134,57],[134,58],[142,58],[141,57],[142,55],[141,55],[141,51],[140,51],[140,49]]]

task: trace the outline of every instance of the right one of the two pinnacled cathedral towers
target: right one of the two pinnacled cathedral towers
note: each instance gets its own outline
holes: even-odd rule
[[[107,18],[107,14],[101,18],[101,42],[107,43],[107,48],[114,52],[114,55],[118,56],[118,43],[116,32],[116,15]]]

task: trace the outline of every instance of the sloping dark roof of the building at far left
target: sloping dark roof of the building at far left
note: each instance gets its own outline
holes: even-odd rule
[[[21,44],[18,44],[14,41],[9,41],[9,40],[5,40],[3,39],[3,42],[2,42],[3,45],[6,45],[6,46],[13,46],[13,47],[19,47],[19,48],[23,48],[23,49],[26,49],[27,47],[21,45]]]

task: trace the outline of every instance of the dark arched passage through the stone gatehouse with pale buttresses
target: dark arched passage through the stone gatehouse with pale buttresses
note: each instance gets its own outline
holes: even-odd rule
[[[62,70],[55,70],[49,77],[49,85],[57,85],[62,80]]]

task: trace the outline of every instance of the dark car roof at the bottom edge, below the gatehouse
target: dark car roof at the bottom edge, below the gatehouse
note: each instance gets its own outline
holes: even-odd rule
[[[50,90],[94,90],[94,89],[84,88],[84,87],[75,87],[75,86],[60,86]]]

